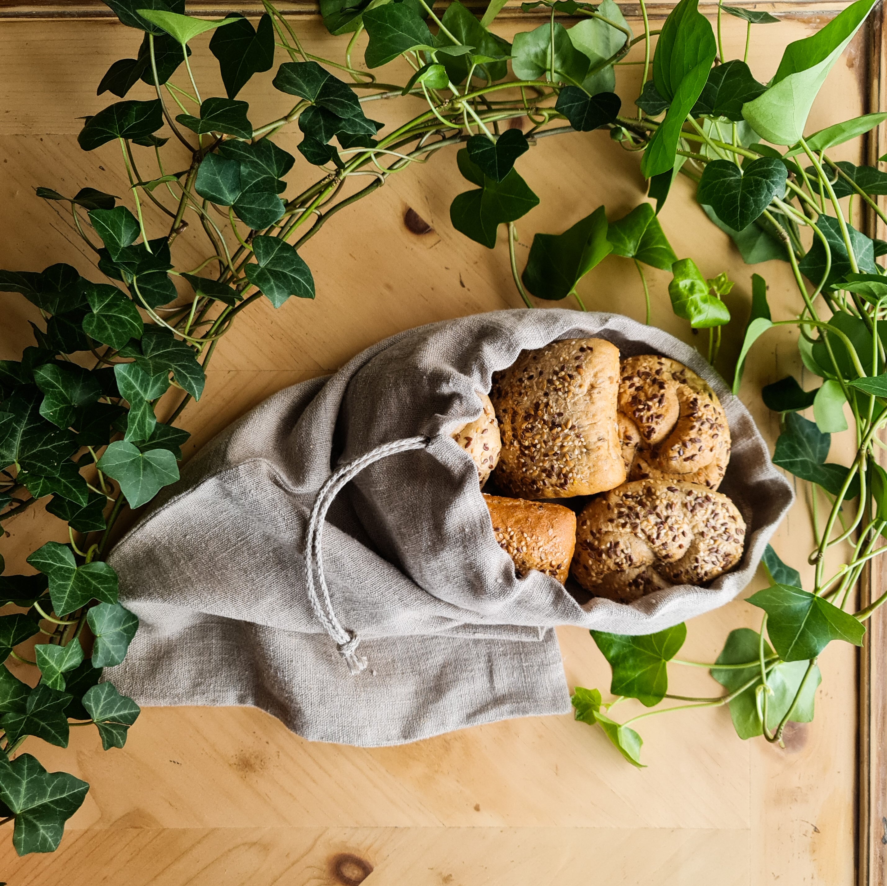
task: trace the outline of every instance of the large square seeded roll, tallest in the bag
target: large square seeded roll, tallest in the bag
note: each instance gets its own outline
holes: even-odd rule
[[[523,351],[493,377],[495,479],[528,499],[593,495],[625,480],[616,429],[619,349],[602,338]]]

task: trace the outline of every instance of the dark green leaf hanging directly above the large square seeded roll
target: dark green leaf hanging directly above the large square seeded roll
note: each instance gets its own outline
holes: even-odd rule
[[[523,284],[538,299],[565,299],[577,283],[613,246],[607,238],[603,206],[562,234],[537,234],[522,274]]]

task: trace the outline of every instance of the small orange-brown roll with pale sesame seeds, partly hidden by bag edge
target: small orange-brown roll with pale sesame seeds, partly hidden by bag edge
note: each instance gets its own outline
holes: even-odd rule
[[[576,514],[563,505],[541,501],[487,494],[483,500],[490,509],[499,547],[514,560],[518,578],[535,569],[562,585],[576,547]]]

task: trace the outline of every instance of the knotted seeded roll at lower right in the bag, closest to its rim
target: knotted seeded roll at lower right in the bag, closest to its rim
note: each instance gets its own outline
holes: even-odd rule
[[[582,587],[631,602],[670,585],[700,585],[742,557],[745,523],[726,495],[695,483],[637,480],[579,515],[572,574]]]

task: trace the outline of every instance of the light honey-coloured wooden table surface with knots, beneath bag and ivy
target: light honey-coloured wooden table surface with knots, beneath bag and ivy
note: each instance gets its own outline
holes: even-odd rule
[[[750,58],[758,78],[773,73],[786,43],[822,23],[796,17],[758,27]],[[518,25],[506,19],[501,31],[509,36]],[[319,54],[341,51],[346,39],[326,35],[317,19],[302,19],[300,27],[310,51]],[[741,45],[744,32],[743,22],[725,17],[729,46]],[[35,198],[33,187],[91,185],[125,193],[116,145],[81,152],[76,118],[109,103],[108,95],[95,96],[95,84],[114,59],[133,54],[139,39],[106,20],[0,21],[0,267],[39,270],[68,261],[95,277],[67,217],[58,205]],[[863,113],[862,46],[860,38],[831,74],[810,130]],[[215,60],[205,51],[195,60],[202,82],[217,84]],[[625,96],[636,94],[638,76],[636,66],[620,69]],[[270,79],[256,77],[240,96],[251,102],[253,120],[271,119],[286,104]],[[140,85],[130,97],[150,94]],[[379,105],[373,116],[392,120],[402,103]],[[278,140],[295,152],[293,131]],[[619,217],[643,198],[637,158],[606,133],[546,139],[521,160],[521,171],[542,198],[518,222],[521,262],[535,232],[565,229],[600,204]],[[292,175],[294,190],[299,183]],[[317,299],[290,299],[279,310],[263,300],[241,315],[217,349],[202,400],[180,422],[193,434],[187,453],[271,392],[329,373],[397,330],[520,307],[501,234],[489,251],[451,229],[449,204],[465,189],[454,153],[442,152],[428,166],[392,176],[314,237],[303,255]],[[419,236],[407,229],[408,208],[432,230]],[[661,219],[679,256],[693,256],[706,276],[727,270],[736,281],[726,299],[736,320],[726,334],[725,365],[738,350],[752,270],[771,286],[774,319],[797,312],[788,265],[744,266],[695,204],[690,183],[679,179]],[[161,221],[149,214],[148,227],[159,233]],[[180,267],[202,258],[184,237],[177,248]],[[668,275],[651,270],[649,276],[653,322],[695,342],[687,324],[671,314]],[[628,260],[606,260],[580,291],[589,309],[643,316],[640,283]],[[33,343],[27,327],[33,314],[19,296],[2,298],[0,356],[15,358]],[[778,421],[759,391],[789,372],[802,377],[790,339],[781,330],[755,346],[742,389],[771,443]],[[812,547],[800,493],[773,542],[798,567]],[[18,517],[3,540],[8,571],[19,571],[24,556],[48,537],[64,540],[62,528],[40,508]],[[728,631],[757,626],[754,612],[737,601],[695,619],[682,657],[713,660]],[[559,636],[570,686],[606,693],[608,666],[588,633],[563,628]],[[18,859],[7,826],[0,881],[319,886],[359,882],[372,867],[365,882],[373,886],[850,883],[853,649],[834,643],[820,664],[816,719],[797,727],[785,750],[760,739],[740,741],[725,709],[692,711],[645,721],[648,768],[640,771],[624,763],[600,730],[569,714],[375,750],[305,742],[263,712],[242,708],[147,709],[126,747],[107,753],[91,729],[75,730],[67,750],[31,738],[25,750],[51,771],[89,781],[90,793],[53,855]],[[718,692],[707,672],[687,670],[673,674],[676,691]]]

